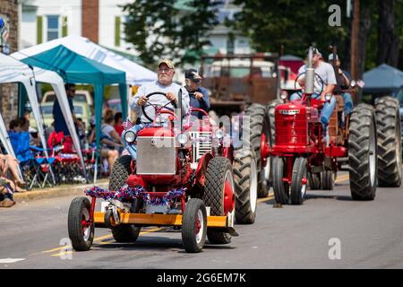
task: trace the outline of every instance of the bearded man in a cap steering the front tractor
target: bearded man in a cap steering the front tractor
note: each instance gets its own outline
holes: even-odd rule
[[[162,59],[159,61],[157,70],[158,80],[151,83],[145,83],[141,85],[139,90],[136,92],[134,97],[129,101],[130,108],[136,113],[136,131],[138,132],[142,127],[150,125],[152,123],[151,118],[154,117],[155,109],[151,105],[166,107],[167,109],[174,110],[175,107],[173,102],[176,103],[176,107],[179,107],[178,96],[181,94],[182,97],[182,115],[186,115],[189,111],[190,100],[189,93],[181,87],[179,84],[173,82],[175,75],[175,65],[168,59]],[[147,98],[147,95],[153,92],[162,92],[162,94],[154,94],[152,97]],[[144,111],[148,116],[144,115],[141,107],[144,107]],[[163,115],[166,116],[166,115]],[[123,134],[124,135],[124,134]],[[135,145],[131,145],[134,149],[132,156],[135,158]],[[128,154],[127,150],[122,153]]]

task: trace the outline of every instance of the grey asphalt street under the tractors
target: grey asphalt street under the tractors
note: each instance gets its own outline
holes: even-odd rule
[[[74,196],[0,209],[0,269],[8,268],[403,268],[403,187],[377,189],[375,200],[351,200],[346,174],[332,191],[308,190],[303,205],[273,208],[260,199],[253,225],[199,254],[182,248],[180,230],[147,228],[133,244],[95,230],[93,247],[68,246]]]

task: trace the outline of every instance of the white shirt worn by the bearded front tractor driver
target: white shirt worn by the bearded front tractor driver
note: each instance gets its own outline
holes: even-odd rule
[[[151,92],[160,91],[160,92],[165,92],[165,93],[172,92],[174,95],[176,95],[176,99],[177,99],[179,96],[179,90],[182,91],[182,114],[184,115],[189,111],[189,106],[190,106],[189,93],[186,91],[186,89],[184,89],[177,83],[171,83],[168,86],[164,86],[164,85],[160,84],[158,81],[151,82],[151,83],[145,83],[145,84],[141,85],[141,87],[136,92],[134,97],[129,101],[129,105],[130,105],[130,108],[133,109],[137,113],[137,116],[141,117],[142,123],[148,123],[148,122],[150,122],[150,120],[147,117],[144,117],[142,115],[141,107],[137,106],[137,101],[140,99],[140,97],[147,96]],[[169,100],[167,100],[167,98],[165,96],[157,94],[157,95],[151,96],[149,102],[152,104],[158,104],[158,105],[163,106],[163,105],[167,104],[169,102]],[[176,100],[176,102],[177,102],[177,100]],[[167,108],[174,109],[172,104],[168,104]],[[154,109],[152,107],[146,107],[145,111],[150,118],[154,117]]]

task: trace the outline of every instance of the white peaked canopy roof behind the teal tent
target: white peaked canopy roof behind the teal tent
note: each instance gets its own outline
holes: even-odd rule
[[[109,65],[117,70],[124,71],[126,73],[126,82],[128,84],[141,85],[142,83],[157,80],[157,74],[149,69],[138,65],[125,57],[117,55],[107,48],[100,47],[89,39],[75,35],[54,39],[37,46],[25,48],[13,53],[12,56],[21,60],[26,57],[35,56],[59,45],[63,45],[83,57],[88,57],[104,65]]]

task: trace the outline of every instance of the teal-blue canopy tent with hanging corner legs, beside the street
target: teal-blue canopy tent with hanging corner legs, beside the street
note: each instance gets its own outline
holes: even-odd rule
[[[21,59],[22,62],[55,71],[64,83],[89,83],[94,86],[97,150],[104,100],[104,86],[118,84],[122,103],[123,117],[127,111],[127,86],[125,73],[107,65],[100,64],[87,57],[82,57],[72,50],[59,45],[35,56]],[[23,102],[21,99],[20,102]],[[97,152],[97,155],[99,152]]]

